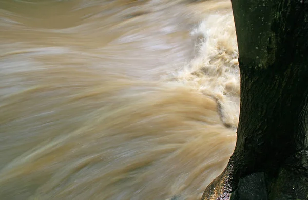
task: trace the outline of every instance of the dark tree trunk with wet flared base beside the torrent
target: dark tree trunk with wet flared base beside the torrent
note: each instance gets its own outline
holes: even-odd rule
[[[237,144],[202,199],[306,199],[308,2],[232,5],[241,73]]]

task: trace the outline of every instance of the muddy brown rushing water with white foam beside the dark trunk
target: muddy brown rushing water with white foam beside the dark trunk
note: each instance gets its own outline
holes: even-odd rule
[[[0,199],[200,199],[237,58],[225,0],[0,0]]]

